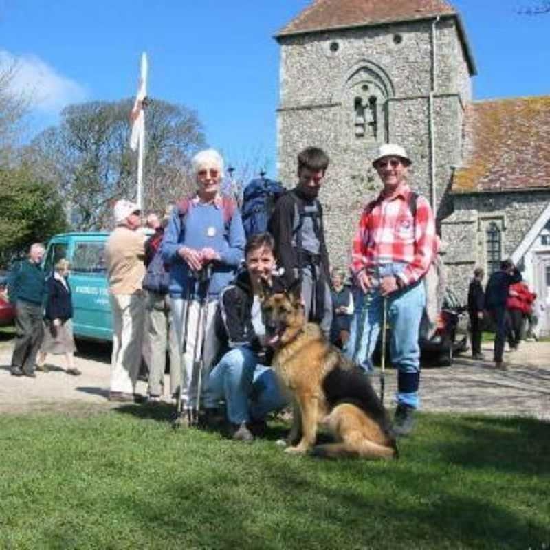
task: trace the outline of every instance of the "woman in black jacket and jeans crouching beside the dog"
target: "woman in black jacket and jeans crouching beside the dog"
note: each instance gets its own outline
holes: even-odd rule
[[[205,388],[205,406],[214,408],[219,399],[227,405],[233,439],[252,441],[251,425],[261,424],[265,415],[283,408],[281,392],[265,347],[261,313],[262,283],[274,283],[274,241],[269,233],[250,237],[245,248],[246,271],[239,274],[220,296],[220,314],[230,351],[212,369]]]

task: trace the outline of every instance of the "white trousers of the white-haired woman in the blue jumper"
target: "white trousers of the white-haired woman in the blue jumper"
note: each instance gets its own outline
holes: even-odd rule
[[[206,331],[203,345],[203,370],[199,373],[201,359],[201,343],[203,341],[203,323],[199,323],[201,305],[199,300],[184,300],[183,298],[171,298],[174,325],[179,342],[179,350],[184,349],[181,357],[181,404],[183,408],[192,409],[197,406],[197,388],[199,375],[201,377],[201,393],[208,380],[208,373],[212,369],[212,363],[219,351],[219,341],[214,327],[214,318],[218,307],[217,300],[210,301],[203,306],[203,315],[206,315]],[[187,316],[186,330],[186,311]]]

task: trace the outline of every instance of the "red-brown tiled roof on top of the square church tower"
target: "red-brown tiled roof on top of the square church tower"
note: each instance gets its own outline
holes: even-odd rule
[[[456,15],[445,0],[314,0],[277,36]]]

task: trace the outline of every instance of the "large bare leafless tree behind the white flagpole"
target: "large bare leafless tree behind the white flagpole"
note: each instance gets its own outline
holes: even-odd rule
[[[43,131],[25,151],[39,175],[56,182],[75,228],[107,228],[113,202],[135,198],[131,106],[131,99],[69,106],[61,124]],[[190,158],[204,146],[204,136],[197,114],[186,107],[150,100],[146,109],[144,209],[162,211],[190,188]]]

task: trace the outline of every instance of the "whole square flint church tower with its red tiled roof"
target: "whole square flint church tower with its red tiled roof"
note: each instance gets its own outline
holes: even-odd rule
[[[321,200],[331,261],[345,265],[364,203],[380,192],[378,146],[403,145],[410,184],[451,213],[476,67],[459,14],[445,0],[316,0],[276,35],[281,45],[278,175],[296,155],[331,157]]]

